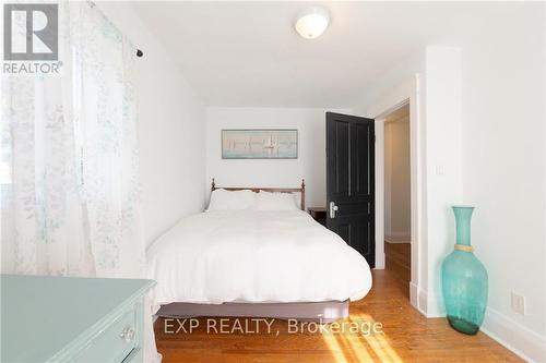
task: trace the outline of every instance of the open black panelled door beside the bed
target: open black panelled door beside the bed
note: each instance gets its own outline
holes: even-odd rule
[[[327,226],[376,265],[373,120],[327,112]]]

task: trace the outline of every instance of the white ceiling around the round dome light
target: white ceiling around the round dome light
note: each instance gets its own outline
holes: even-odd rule
[[[294,31],[311,2],[135,2],[207,106],[353,107],[376,77],[435,44],[467,3],[322,2],[318,39]]]

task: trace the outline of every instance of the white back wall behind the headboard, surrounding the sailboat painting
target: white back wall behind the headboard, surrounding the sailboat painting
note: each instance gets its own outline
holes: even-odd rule
[[[306,180],[306,206],[325,206],[325,112],[309,108],[209,108],[206,111],[206,181],[218,186],[297,187]],[[297,129],[298,158],[223,160],[222,129]]]

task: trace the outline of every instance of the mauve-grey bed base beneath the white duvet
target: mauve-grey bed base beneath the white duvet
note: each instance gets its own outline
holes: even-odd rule
[[[333,323],[348,316],[348,300],[296,303],[170,303],[157,312],[163,317],[233,316]]]

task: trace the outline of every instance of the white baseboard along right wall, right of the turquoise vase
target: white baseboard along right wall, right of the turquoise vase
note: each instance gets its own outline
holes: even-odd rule
[[[546,337],[487,307],[483,332],[527,362],[546,362]]]

